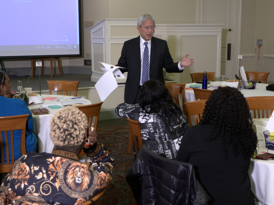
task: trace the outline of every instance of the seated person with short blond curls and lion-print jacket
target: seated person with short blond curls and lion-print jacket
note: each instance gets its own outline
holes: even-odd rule
[[[21,156],[0,187],[0,205],[71,204],[86,202],[111,182],[115,163],[96,131],[76,107],[64,107],[51,119],[55,151]],[[88,129],[87,129],[88,128]],[[90,157],[79,161],[79,153]]]

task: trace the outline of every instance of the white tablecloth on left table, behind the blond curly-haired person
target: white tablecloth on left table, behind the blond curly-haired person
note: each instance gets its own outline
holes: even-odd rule
[[[42,99],[45,97],[63,97],[65,98],[72,98],[73,96],[65,96],[65,95],[41,95]],[[63,100],[63,99],[61,99]],[[86,101],[86,103],[83,103],[85,105],[91,104],[91,102],[87,99],[82,99]],[[45,102],[43,101],[43,104],[56,104],[58,101],[53,101],[53,102]],[[68,102],[69,103],[69,102]],[[41,104],[32,104],[29,105],[28,108],[31,109],[37,109],[41,108]],[[55,110],[49,110],[49,114],[44,114],[44,115],[34,115],[33,116],[33,121],[34,121],[34,130],[33,133],[37,136],[38,138],[38,152],[47,152],[47,153],[52,153],[54,144],[51,142],[51,138],[49,135],[49,122],[55,112],[57,112],[59,109]]]

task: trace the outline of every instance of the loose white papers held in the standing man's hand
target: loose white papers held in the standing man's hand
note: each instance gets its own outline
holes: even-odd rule
[[[104,101],[112,91],[115,90],[116,87],[118,87],[118,84],[115,80],[115,78],[124,78],[124,75],[119,70],[119,68],[115,65],[109,65],[107,63],[99,62],[103,65],[101,69],[105,72],[104,75],[97,81],[95,84],[95,88],[98,92],[98,95],[101,99],[101,101]]]

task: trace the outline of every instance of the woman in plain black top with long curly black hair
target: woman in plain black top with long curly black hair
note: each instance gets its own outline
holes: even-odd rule
[[[194,165],[211,196],[209,204],[255,204],[247,171],[257,142],[243,94],[219,87],[207,100],[200,124],[187,130],[176,160]]]

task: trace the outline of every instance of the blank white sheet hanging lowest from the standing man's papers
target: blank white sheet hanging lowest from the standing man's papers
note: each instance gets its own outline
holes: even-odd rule
[[[95,84],[101,101],[104,101],[116,87],[118,84],[112,72],[106,72]]]

